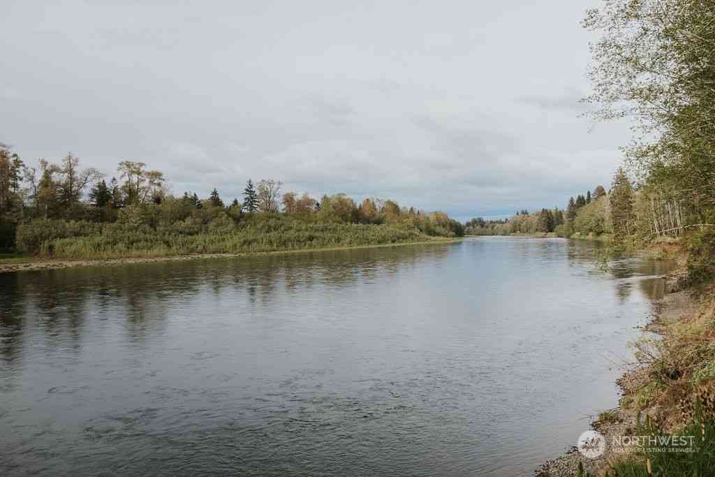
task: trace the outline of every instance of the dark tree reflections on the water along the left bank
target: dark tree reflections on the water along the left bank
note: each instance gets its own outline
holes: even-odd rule
[[[191,300],[204,290],[218,297],[226,290],[268,305],[276,295],[310,292],[315,287],[350,287],[398,272],[415,262],[438,261],[449,246],[413,246],[350,252],[236,259],[157,262],[117,267],[87,267],[0,274],[2,355],[15,358],[27,320],[39,326],[49,346],[81,346],[89,313],[107,315],[119,308],[132,341],[162,330],[169,303]],[[91,310],[91,311],[90,311]],[[51,338],[51,339],[50,339]]]

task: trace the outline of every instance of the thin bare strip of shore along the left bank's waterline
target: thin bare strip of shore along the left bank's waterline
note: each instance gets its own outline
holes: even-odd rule
[[[431,240],[420,240],[416,242],[398,242],[374,245],[352,245],[346,247],[305,247],[293,250],[270,250],[264,252],[238,252],[238,253],[200,253],[189,255],[164,255],[157,257],[117,257],[117,258],[97,258],[97,259],[77,259],[68,260],[61,258],[46,257],[24,257],[20,255],[0,257],[0,273],[24,272],[34,270],[56,270],[61,268],[75,267],[98,267],[115,266],[129,263],[151,263],[151,262],[182,262],[187,260],[205,260],[209,258],[234,258],[234,257],[257,257],[264,255],[290,255],[306,252],[330,252],[337,250],[356,250],[367,248],[401,247],[407,245],[441,245],[460,242],[460,238],[433,237]]]

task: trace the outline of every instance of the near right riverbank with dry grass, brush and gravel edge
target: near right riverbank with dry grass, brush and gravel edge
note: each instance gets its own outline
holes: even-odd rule
[[[621,390],[618,407],[603,411],[591,423],[606,440],[603,455],[587,458],[572,446],[539,467],[538,477],[645,476],[651,475],[646,473],[649,466],[653,475],[711,475],[693,471],[715,468],[715,287],[683,287],[685,257],[677,245],[662,244],[644,253],[675,257],[679,266],[667,275],[666,295],[633,343],[635,362],[616,380]],[[694,451],[678,455],[667,448],[649,452],[632,444],[613,447],[623,436],[674,435],[694,436]]]

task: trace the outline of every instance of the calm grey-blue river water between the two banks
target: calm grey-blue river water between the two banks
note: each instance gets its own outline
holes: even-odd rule
[[[0,274],[0,475],[521,476],[665,265],[460,243]]]

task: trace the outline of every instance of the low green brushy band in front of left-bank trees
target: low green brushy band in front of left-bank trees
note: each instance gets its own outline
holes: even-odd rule
[[[42,257],[92,259],[271,252],[439,240],[400,225],[309,223],[277,216],[238,223],[222,216],[205,225],[189,220],[157,227],[54,222],[61,221],[35,223],[24,228],[18,234],[18,242],[26,252]]]

